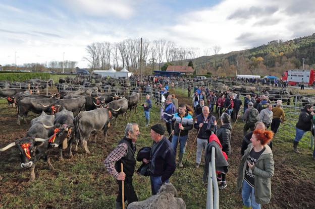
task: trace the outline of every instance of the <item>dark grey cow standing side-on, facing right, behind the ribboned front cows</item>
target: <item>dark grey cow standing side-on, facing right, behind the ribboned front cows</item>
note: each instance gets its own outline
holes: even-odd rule
[[[28,111],[37,114],[45,111],[53,114],[56,111],[56,108],[55,106],[49,107],[49,105],[54,104],[58,100],[59,99],[56,98],[33,99],[29,97],[20,99],[18,103],[18,125],[20,125],[21,119],[24,119],[24,122],[27,123],[26,116]]]

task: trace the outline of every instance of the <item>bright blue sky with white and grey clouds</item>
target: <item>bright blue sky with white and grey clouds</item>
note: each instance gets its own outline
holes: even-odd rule
[[[165,39],[220,53],[315,33],[313,0],[0,0],[0,64],[87,67],[93,42]],[[15,53],[16,52],[16,53]]]

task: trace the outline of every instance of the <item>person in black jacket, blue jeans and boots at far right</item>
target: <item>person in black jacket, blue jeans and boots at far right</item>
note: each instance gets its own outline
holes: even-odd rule
[[[295,125],[295,138],[293,141],[293,151],[295,153],[300,153],[297,150],[298,143],[300,142],[301,138],[303,137],[306,131],[309,131],[311,128],[311,121],[313,119],[313,106],[305,105],[305,107],[301,110],[299,115],[299,119]]]

